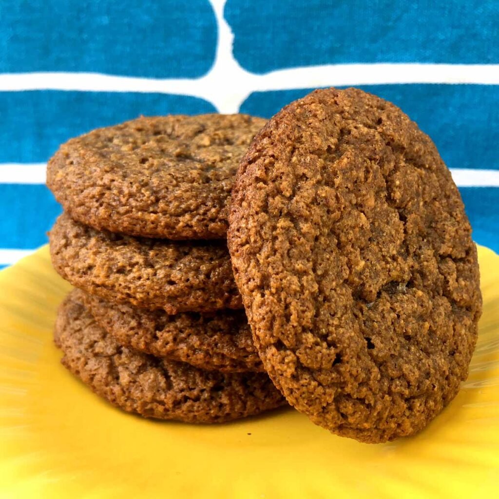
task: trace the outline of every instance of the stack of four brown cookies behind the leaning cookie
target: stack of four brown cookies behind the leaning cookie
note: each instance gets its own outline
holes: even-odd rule
[[[264,123],[142,117],[72,139],[48,164],[64,208],[52,262],[75,286],[56,344],[70,371],[126,411],[213,423],[284,403],[225,241],[234,176]]]

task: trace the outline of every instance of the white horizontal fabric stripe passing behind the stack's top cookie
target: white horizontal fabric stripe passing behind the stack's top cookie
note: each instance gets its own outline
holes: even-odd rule
[[[45,163],[0,163],[0,184],[44,184]],[[499,187],[499,170],[451,168],[459,187]]]

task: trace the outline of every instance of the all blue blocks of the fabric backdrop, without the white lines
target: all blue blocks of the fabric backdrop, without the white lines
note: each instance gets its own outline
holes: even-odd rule
[[[329,63],[499,63],[497,0],[228,0],[225,18],[237,61],[258,74]],[[0,74],[196,78],[215,60],[217,23],[208,0],[2,0],[0,19]],[[498,85],[362,88],[402,107],[449,167],[499,170]],[[270,117],[309,90],[253,92],[241,111]],[[214,111],[211,102],[173,94],[0,91],[0,163],[46,162],[69,137],[140,114]],[[499,188],[461,193],[475,239],[499,251]],[[42,185],[0,183],[0,248],[44,244],[59,212]]]

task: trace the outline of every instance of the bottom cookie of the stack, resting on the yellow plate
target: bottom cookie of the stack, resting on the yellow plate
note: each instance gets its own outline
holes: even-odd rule
[[[75,376],[115,406],[144,417],[222,423],[283,405],[266,374],[203,371],[120,346],[70,297],[59,308],[54,338]]]

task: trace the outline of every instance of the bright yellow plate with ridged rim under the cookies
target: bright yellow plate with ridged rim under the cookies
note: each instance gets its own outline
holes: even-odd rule
[[[0,497],[496,497],[499,257],[479,248],[479,258],[484,314],[468,381],[418,436],[368,445],[292,409],[194,426],[111,407],[59,363],[52,325],[70,286],[42,248],[0,272]]]

